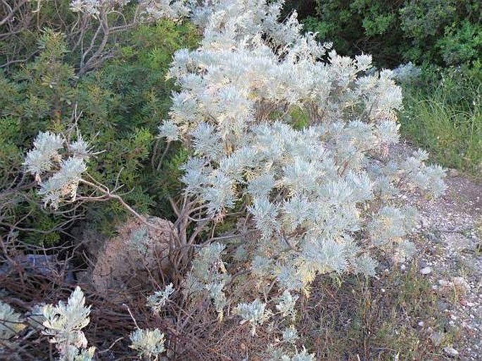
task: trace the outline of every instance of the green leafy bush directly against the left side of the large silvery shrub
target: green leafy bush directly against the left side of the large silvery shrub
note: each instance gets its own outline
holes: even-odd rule
[[[172,53],[196,42],[196,32],[190,25],[175,25],[167,20],[142,25],[120,48],[120,56],[79,84],[79,108],[89,120],[80,121],[81,132],[87,139],[95,139],[94,148],[104,151],[92,161],[92,175],[110,188],[115,182],[124,184],[124,190],[129,192],[125,201],[139,213],[169,215],[164,206],[169,187],[159,182],[157,164],[151,165],[153,144],[157,127],[170,108],[173,84],[165,80],[165,72]],[[161,149],[165,146],[160,142]],[[177,177],[177,172],[173,176]],[[171,178],[161,178],[166,177]],[[105,212],[109,215],[124,213],[117,206],[102,205],[110,208]]]

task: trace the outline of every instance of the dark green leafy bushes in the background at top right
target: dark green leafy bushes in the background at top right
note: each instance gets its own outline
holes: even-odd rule
[[[305,29],[334,42],[342,54],[371,53],[376,65],[399,63],[458,65],[481,58],[481,5],[476,0],[317,0]],[[303,14],[303,15],[302,15]]]

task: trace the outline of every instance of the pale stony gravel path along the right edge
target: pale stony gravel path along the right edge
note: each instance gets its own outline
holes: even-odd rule
[[[402,144],[397,151],[403,156],[412,149]],[[482,360],[482,184],[455,170],[449,170],[445,182],[441,198],[428,200],[410,191],[400,198],[421,213],[416,237],[420,277],[429,278],[438,310],[447,312],[446,332],[458,335],[443,348],[445,357]],[[443,342],[445,335],[426,331],[433,343]]]

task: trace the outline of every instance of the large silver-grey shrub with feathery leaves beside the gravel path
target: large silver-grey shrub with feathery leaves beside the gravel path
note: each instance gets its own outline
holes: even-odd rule
[[[235,315],[253,332],[277,322],[288,331],[274,336],[267,357],[314,360],[293,344],[300,294],[318,274],[375,274],[376,250],[413,253],[417,212],[396,196],[402,188],[438,196],[445,174],[422,151],[391,157],[402,110],[393,72],[369,72],[371,56],[318,44],[300,32],[296,13],[280,23],[282,3],[156,4],[151,14],[189,16],[203,31],[198,49],[175,53],[169,75],[179,91],[159,129],[190,152],[183,200],[172,203],[177,246],[197,250],[179,290],[184,306],[212,302],[220,320]],[[47,151],[27,156],[30,172],[49,170],[56,149]],[[75,184],[67,170],[58,177]],[[226,234],[202,232],[233,219]],[[290,341],[280,341],[285,334]]]

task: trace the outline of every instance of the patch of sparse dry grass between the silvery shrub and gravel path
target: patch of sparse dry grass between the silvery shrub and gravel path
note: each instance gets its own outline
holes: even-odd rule
[[[320,277],[301,315],[300,329],[317,360],[441,357],[428,330],[443,332],[444,316],[416,265],[384,272],[378,279],[345,277],[341,284]]]

